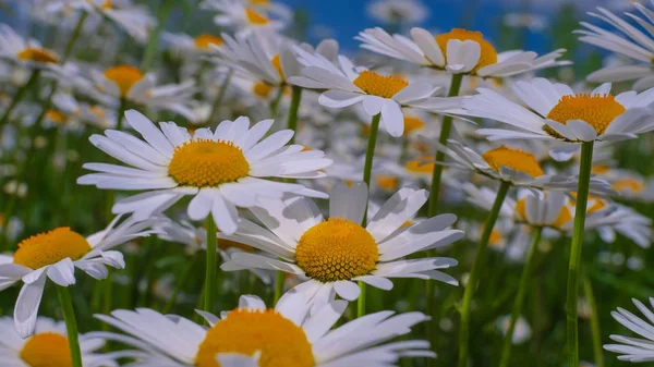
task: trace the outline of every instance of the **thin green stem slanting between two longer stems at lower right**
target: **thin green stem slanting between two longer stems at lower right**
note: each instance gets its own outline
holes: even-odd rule
[[[505,335],[504,346],[501,348],[501,358],[499,362],[500,367],[509,366],[509,360],[511,359],[511,347],[513,346],[513,331],[516,330],[516,322],[518,321],[518,317],[520,317],[520,314],[522,313],[522,305],[524,303],[524,296],[526,295],[526,289],[529,286],[529,282],[532,276],[534,267],[534,257],[537,253],[538,242],[541,241],[542,232],[543,229],[540,227],[534,229],[531,247],[529,248],[526,260],[524,262],[524,267],[522,268],[522,274],[520,276],[520,285],[518,288],[518,294],[516,295],[516,299],[513,301],[511,320],[509,322],[509,328]]]

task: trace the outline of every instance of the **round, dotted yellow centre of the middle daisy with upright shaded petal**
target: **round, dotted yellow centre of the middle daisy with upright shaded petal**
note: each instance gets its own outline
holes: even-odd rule
[[[363,227],[340,218],[308,229],[295,248],[295,260],[306,276],[324,283],[368,274],[378,259],[375,238]]]

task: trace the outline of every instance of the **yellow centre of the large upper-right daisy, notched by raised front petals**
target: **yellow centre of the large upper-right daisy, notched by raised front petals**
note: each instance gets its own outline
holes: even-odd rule
[[[578,94],[564,96],[547,113],[547,119],[562,123],[569,120],[582,120],[604,134],[606,127],[627,109],[611,95]],[[545,126],[549,135],[560,137],[552,127]]]

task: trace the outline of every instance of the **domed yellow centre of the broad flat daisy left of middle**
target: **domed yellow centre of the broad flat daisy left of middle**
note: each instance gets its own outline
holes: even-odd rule
[[[247,176],[250,163],[232,142],[194,139],[174,149],[168,174],[184,186],[217,186]]]

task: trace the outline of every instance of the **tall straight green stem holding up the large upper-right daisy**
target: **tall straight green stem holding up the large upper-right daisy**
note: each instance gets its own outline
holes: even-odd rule
[[[568,295],[566,302],[568,366],[579,365],[579,330],[577,319],[577,298],[579,295],[579,272],[581,268],[581,247],[585,228],[586,205],[589,200],[589,183],[593,161],[593,142],[581,145],[581,162],[579,183],[577,186],[577,205],[574,208],[574,227],[570,246],[570,264],[568,265]]]

